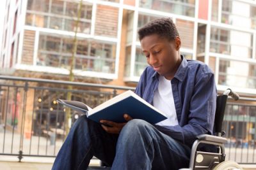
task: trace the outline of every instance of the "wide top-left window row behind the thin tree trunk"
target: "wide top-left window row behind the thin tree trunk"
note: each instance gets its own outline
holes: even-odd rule
[[[28,0],[26,25],[51,29],[76,31],[77,11],[79,2],[58,0]],[[92,4],[83,3],[81,18],[77,32],[90,34],[92,20]],[[49,24],[48,24],[49,22]]]

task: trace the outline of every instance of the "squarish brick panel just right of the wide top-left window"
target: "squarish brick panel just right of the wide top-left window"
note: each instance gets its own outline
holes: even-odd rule
[[[95,35],[116,38],[118,28],[118,8],[98,5],[95,21]]]

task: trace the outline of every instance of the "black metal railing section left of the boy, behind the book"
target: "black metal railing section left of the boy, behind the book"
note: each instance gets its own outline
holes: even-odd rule
[[[55,157],[65,140],[65,125],[79,117],[72,111],[71,121],[65,120],[65,107],[56,99],[72,92],[72,100],[93,108],[124,90],[134,88],[0,76],[0,155]]]

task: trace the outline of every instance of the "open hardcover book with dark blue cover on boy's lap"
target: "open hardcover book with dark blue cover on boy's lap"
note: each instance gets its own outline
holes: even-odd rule
[[[125,113],[132,118],[143,119],[150,124],[157,124],[166,119],[164,113],[157,110],[157,108],[154,108],[154,106],[147,103],[147,101],[131,90],[119,94],[93,109],[79,101],[67,101],[61,99],[58,99],[57,101],[60,104],[72,108],[72,110],[86,114],[88,118],[95,122],[99,122],[100,120],[111,120],[119,123],[126,122],[124,119]]]

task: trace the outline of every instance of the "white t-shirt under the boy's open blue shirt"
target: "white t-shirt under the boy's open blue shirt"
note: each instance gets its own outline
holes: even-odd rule
[[[179,125],[173,100],[172,83],[164,76],[159,76],[159,85],[154,92],[153,105],[167,117],[166,120],[156,125]]]

